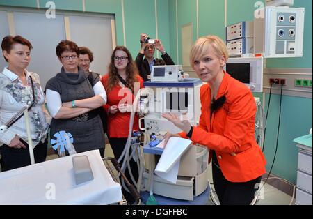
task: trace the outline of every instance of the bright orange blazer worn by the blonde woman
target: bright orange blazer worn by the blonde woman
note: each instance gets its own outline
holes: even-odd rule
[[[210,122],[211,89],[209,84],[201,86],[201,116],[191,140],[216,151],[218,164],[228,181],[250,181],[266,172],[264,154],[255,140],[255,100],[244,84],[227,73],[216,99],[223,95],[226,101],[212,114]],[[179,135],[186,138],[184,132]]]

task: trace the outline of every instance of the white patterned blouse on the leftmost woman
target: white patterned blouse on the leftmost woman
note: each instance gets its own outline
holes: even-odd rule
[[[29,110],[29,121],[31,128],[31,139],[35,147],[40,141],[44,141],[49,128],[49,114],[45,110],[45,94],[42,92],[39,76],[36,73],[30,73],[25,70],[27,85],[15,73],[4,68],[0,73],[0,126],[4,125],[12,116],[14,116],[25,105],[30,106],[33,103],[33,91],[31,79],[35,91],[35,101],[31,110]],[[0,133],[0,146],[10,144],[15,135],[28,142],[26,133],[26,123],[24,116],[16,121],[4,133]]]

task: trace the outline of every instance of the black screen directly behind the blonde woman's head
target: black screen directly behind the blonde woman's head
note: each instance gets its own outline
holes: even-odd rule
[[[227,63],[226,72],[239,82],[250,83],[250,63]]]

